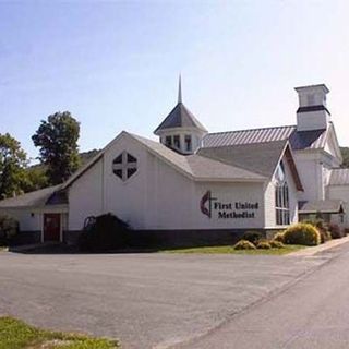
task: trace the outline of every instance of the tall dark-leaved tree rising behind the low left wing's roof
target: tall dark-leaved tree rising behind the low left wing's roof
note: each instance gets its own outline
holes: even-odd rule
[[[41,120],[32,136],[35,146],[40,147],[39,159],[47,166],[50,184],[63,182],[79,168],[79,134],[80,123],[64,111]]]

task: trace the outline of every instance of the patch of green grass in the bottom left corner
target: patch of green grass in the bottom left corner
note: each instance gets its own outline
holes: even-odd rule
[[[12,317],[0,317],[0,349],[120,349],[116,341],[49,332]]]

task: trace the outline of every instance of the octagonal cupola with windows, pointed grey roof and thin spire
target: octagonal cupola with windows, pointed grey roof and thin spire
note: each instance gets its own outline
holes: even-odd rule
[[[182,103],[181,76],[179,77],[178,103],[154,131],[160,143],[183,155],[193,154],[202,145],[207,130]]]

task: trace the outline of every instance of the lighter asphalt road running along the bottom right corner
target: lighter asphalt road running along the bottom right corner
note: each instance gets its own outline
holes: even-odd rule
[[[276,297],[177,348],[349,348],[349,248]]]

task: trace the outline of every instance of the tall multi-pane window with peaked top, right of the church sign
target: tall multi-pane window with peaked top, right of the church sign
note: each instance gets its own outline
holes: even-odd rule
[[[290,224],[289,190],[285,178],[285,167],[282,161],[276,171],[277,184],[275,186],[275,210],[276,224],[286,226]]]

